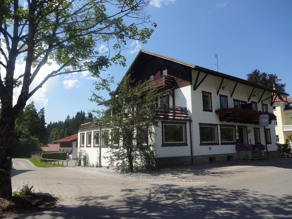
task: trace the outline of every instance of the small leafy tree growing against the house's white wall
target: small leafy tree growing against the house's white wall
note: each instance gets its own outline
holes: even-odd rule
[[[102,111],[96,111],[100,118],[98,124],[106,124],[110,133],[102,135],[108,142],[107,157],[115,161],[124,171],[134,171],[135,167],[154,166],[154,145],[143,144],[142,127],[149,127],[147,135],[153,137],[153,127],[158,126],[156,117],[156,99],[162,95],[156,88],[146,89],[146,81],[136,89],[131,75],[125,77],[119,85],[117,97],[110,92],[110,100],[105,101],[93,94],[92,100],[105,105]],[[112,112],[112,113],[108,113]],[[144,133],[145,134],[145,133]]]

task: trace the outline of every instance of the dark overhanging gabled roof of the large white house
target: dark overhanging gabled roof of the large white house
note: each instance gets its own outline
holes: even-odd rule
[[[247,81],[247,80],[244,80],[244,79],[241,79],[241,78],[238,78],[238,77],[234,77],[232,75],[224,74],[224,73],[221,73],[221,72],[216,72],[216,71],[213,71],[211,69],[200,67],[198,65],[193,65],[193,64],[190,64],[190,63],[187,63],[187,62],[183,62],[183,61],[180,61],[180,60],[177,60],[177,59],[173,59],[173,58],[164,56],[164,55],[159,55],[159,54],[156,54],[156,53],[152,53],[152,52],[149,52],[149,51],[146,51],[146,50],[143,50],[143,49],[141,49],[139,51],[139,53],[135,57],[134,61],[130,65],[129,69],[127,70],[126,74],[124,75],[124,77],[126,75],[128,75],[130,69],[134,70],[135,67],[138,66],[136,64],[136,62],[143,61],[143,60],[147,59],[147,56],[155,56],[157,58],[161,58],[161,59],[164,59],[164,60],[168,60],[168,61],[171,61],[171,62],[176,62],[176,63],[178,63],[180,65],[185,65],[186,67],[190,67],[190,68],[192,68],[194,70],[197,70],[197,71],[200,71],[200,72],[205,72],[205,73],[208,73],[208,74],[220,77],[220,78],[225,78],[225,79],[231,80],[231,81],[236,81],[236,82],[239,82],[241,84],[246,84],[248,86],[256,87],[256,88],[259,88],[259,89],[262,89],[262,90],[265,90],[265,91],[270,91],[272,93],[277,93],[277,94],[281,94],[281,95],[288,95],[287,93],[284,93],[284,92],[281,92],[281,91],[275,91],[272,88],[268,88],[268,87],[253,83],[251,81]],[[123,81],[124,77],[122,78],[121,82]],[[118,88],[119,88],[119,86],[114,91],[115,94],[117,94]]]

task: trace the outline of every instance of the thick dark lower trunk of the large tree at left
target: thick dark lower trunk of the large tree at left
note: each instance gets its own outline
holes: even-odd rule
[[[0,119],[0,197],[10,199],[11,187],[11,159],[13,130],[15,116],[2,105]]]

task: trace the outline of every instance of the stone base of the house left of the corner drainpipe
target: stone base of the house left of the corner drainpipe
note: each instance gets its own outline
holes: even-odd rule
[[[179,166],[192,164],[191,156],[182,157],[157,157],[155,159],[156,167]]]

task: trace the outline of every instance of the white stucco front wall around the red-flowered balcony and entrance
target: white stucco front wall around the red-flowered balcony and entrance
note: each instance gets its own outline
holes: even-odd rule
[[[194,81],[197,77],[197,71],[192,71],[192,83],[194,84]],[[200,74],[199,80],[204,77],[204,73]],[[259,125],[254,125],[254,124],[239,124],[239,123],[233,123],[233,122],[225,122],[219,121],[219,116],[215,114],[215,110],[220,108],[220,96],[219,94],[222,95],[227,95],[228,96],[228,106],[229,107],[234,107],[234,102],[233,99],[241,100],[241,101],[247,101],[250,103],[251,101],[258,102],[258,99],[260,98],[262,90],[255,88],[254,91],[260,91],[260,94],[256,95],[253,97],[251,96],[251,99],[248,101],[248,97],[251,94],[252,87],[246,86],[243,84],[237,84],[237,87],[234,91],[234,94],[231,96],[231,92],[234,88],[235,82],[234,81],[229,81],[229,80],[224,80],[225,84],[227,86],[225,89],[222,89],[222,86],[220,87],[220,91],[217,95],[217,90],[220,85],[221,78],[215,77],[212,75],[208,75],[206,79],[201,83],[199,88],[197,88],[196,91],[193,91],[191,89],[191,99],[192,99],[192,133],[193,133],[193,154],[194,155],[207,155],[207,154],[225,154],[225,153],[235,153],[235,145],[199,145],[200,144],[200,136],[199,136],[199,123],[211,123],[211,124],[218,124],[218,136],[219,136],[219,143],[220,143],[220,126],[219,124],[227,124],[227,125],[239,125],[239,126],[247,126],[247,130],[251,130],[251,133],[248,133],[248,141],[252,144],[254,144],[254,133],[253,133],[253,128],[258,128],[260,127]],[[199,82],[197,82],[199,83]],[[212,93],[212,112],[204,112],[203,111],[203,105],[202,105],[202,91],[207,91]],[[270,96],[269,92],[265,92],[263,95],[262,100],[265,98],[268,98]],[[270,105],[270,98],[265,100],[263,102],[264,104],[268,105],[268,111],[273,112],[273,109]],[[262,110],[262,101],[257,104],[258,110]],[[272,121],[272,124],[267,126],[266,128],[270,128],[271,132],[271,142],[272,144],[268,144],[268,150],[277,150],[277,146],[275,145],[276,143],[276,133],[275,133],[275,126],[274,122]],[[237,129],[237,127],[236,127]],[[265,135],[264,135],[264,128],[260,127],[260,139],[261,143],[265,145]],[[211,146],[211,150],[209,150],[209,147]]]

